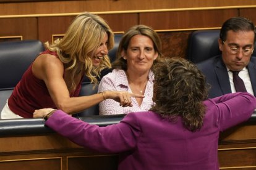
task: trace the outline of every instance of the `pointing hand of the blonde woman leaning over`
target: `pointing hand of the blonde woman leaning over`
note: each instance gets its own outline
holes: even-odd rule
[[[143,98],[144,95],[134,94],[130,92],[123,92],[123,91],[105,91],[106,99],[113,99],[116,102],[120,103],[122,107],[132,107],[132,100],[131,97],[139,97]]]

